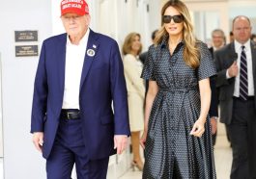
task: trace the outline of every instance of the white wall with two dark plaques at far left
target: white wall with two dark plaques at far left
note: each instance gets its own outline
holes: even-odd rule
[[[51,34],[51,0],[1,1],[5,179],[45,179],[44,160],[30,134],[33,83],[39,57],[15,58],[14,46],[41,44]],[[38,30],[39,41],[15,42],[14,31]]]

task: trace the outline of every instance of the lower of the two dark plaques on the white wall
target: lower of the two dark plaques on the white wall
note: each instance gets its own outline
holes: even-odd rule
[[[15,57],[38,56],[38,45],[17,45],[15,46]]]

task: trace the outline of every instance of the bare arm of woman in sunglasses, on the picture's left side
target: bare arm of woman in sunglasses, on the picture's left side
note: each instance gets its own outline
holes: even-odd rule
[[[156,98],[157,91],[158,91],[158,86],[156,84],[156,81],[149,81],[149,90],[147,92],[146,106],[145,106],[144,132],[140,140],[140,144],[143,148],[145,148],[145,141],[148,133],[149,118],[150,118],[153,102]]]

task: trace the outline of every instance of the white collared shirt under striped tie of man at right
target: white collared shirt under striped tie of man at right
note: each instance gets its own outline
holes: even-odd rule
[[[241,44],[237,40],[235,40],[235,51],[238,54],[237,64],[239,67],[239,74],[235,77],[235,89],[234,89],[233,95],[236,97],[240,96],[240,64],[241,64],[242,45],[244,46],[244,51],[246,54],[246,61],[247,61],[248,95],[254,96],[254,83],[253,83],[250,39],[248,41],[246,41],[244,44]]]

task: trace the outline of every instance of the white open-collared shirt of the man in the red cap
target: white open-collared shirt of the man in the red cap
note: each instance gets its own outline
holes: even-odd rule
[[[72,44],[69,35],[67,36],[65,86],[62,109],[80,109],[80,81],[89,33],[90,29],[88,28],[86,34],[81,38],[78,45]]]

